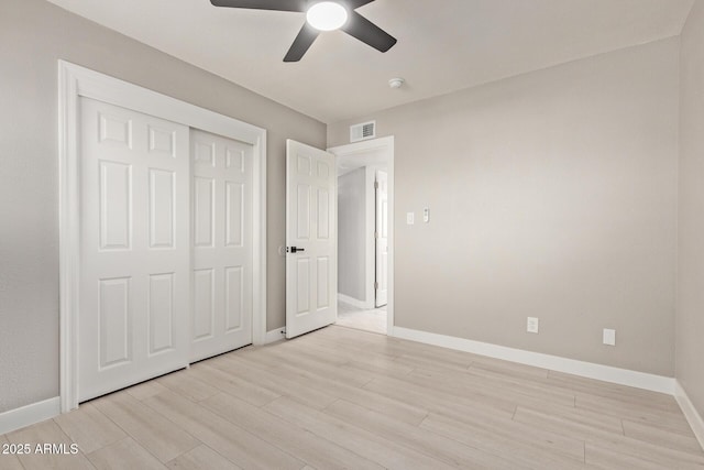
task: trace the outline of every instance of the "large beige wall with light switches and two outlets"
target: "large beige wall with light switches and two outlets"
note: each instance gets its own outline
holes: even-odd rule
[[[354,120],[395,135],[396,325],[672,376],[678,55],[666,40]]]

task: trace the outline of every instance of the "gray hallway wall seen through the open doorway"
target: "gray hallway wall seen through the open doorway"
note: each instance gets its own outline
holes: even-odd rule
[[[338,178],[338,292],[366,302],[366,168]]]

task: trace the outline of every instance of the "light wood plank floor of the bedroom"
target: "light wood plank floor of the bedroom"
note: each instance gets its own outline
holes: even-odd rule
[[[0,436],[1,469],[704,469],[671,396],[344,327]]]

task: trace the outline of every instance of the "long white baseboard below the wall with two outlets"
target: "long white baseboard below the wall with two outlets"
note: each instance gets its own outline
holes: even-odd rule
[[[389,335],[392,334],[389,332]],[[668,376],[618,369],[609,365],[595,364],[592,362],[578,361],[574,359],[560,358],[558,356],[542,354],[540,352],[525,351],[521,349],[507,348],[505,346],[491,345],[487,342],[418,331],[408,328],[395,327],[392,336],[424,342],[426,345],[440,346],[443,348],[455,349],[458,351],[473,352],[475,354],[487,356],[490,358],[518,362],[520,364],[532,365],[536,368],[549,369],[551,371],[596,379],[604,382],[667,393],[668,395],[672,395],[674,393],[674,379]]]

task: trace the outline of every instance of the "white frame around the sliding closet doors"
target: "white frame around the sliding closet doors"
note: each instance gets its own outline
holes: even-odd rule
[[[253,146],[252,341],[266,338],[266,130],[176,98],[58,61],[59,397],[78,407],[80,253],[79,98],[91,98]],[[193,250],[193,247],[189,247]],[[193,284],[193,280],[190,282]],[[193,286],[191,286],[193,289]],[[190,323],[188,325],[190,329]],[[187,365],[188,358],[186,358]]]

